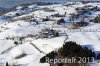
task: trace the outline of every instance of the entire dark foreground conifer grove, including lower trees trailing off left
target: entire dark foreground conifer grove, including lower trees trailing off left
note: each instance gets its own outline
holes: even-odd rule
[[[42,57],[40,59],[41,63],[46,62],[46,57],[50,59],[57,59],[58,56],[59,58],[72,58],[75,57],[77,60],[78,57],[94,57],[96,58],[96,54],[94,51],[88,49],[87,47],[81,47],[80,45],[76,44],[76,42],[66,42],[63,47],[59,48],[58,51],[52,51],[51,53],[47,54],[46,56]],[[100,58],[100,54],[98,56]]]

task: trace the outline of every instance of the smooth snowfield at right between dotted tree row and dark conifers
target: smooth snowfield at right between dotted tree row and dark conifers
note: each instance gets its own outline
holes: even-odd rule
[[[77,38],[77,39],[75,39]],[[94,51],[100,51],[100,34],[99,32],[82,32],[72,33],[67,41],[75,41],[80,45],[85,45]]]

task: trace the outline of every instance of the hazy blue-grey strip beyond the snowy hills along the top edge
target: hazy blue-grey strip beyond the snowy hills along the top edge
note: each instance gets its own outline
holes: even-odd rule
[[[100,0],[0,0],[0,7],[11,8],[17,5],[33,3],[33,2],[65,3],[68,1],[100,1]]]

